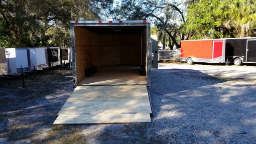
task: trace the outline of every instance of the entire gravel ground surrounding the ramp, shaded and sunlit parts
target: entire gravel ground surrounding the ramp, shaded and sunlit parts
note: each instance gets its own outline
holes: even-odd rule
[[[256,143],[256,67],[160,64],[151,123],[52,125],[73,91],[65,73],[0,81],[0,143]]]

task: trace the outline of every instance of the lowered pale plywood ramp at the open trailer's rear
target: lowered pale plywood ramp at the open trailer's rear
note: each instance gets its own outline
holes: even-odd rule
[[[53,124],[151,122],[146,85],[77,86]]]

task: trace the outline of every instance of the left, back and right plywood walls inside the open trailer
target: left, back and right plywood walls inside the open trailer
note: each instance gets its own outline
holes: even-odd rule
[[[142,33],[99,34],[84,27],[75,27],[77,83],[85,78],[84,69],[90,66],[136,65],[146,68],[146,28]],[[146,69],[145,69],[146,70]]]

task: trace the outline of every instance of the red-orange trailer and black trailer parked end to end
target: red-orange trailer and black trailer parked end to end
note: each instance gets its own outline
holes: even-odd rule
[[[256,63],[256,38],[181,41],[181,61],[205,63]]]

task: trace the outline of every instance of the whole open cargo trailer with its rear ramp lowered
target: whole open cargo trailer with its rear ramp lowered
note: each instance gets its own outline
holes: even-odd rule
[[[151,122],[150,21],[70,24],[76,88],[54,124]]]

